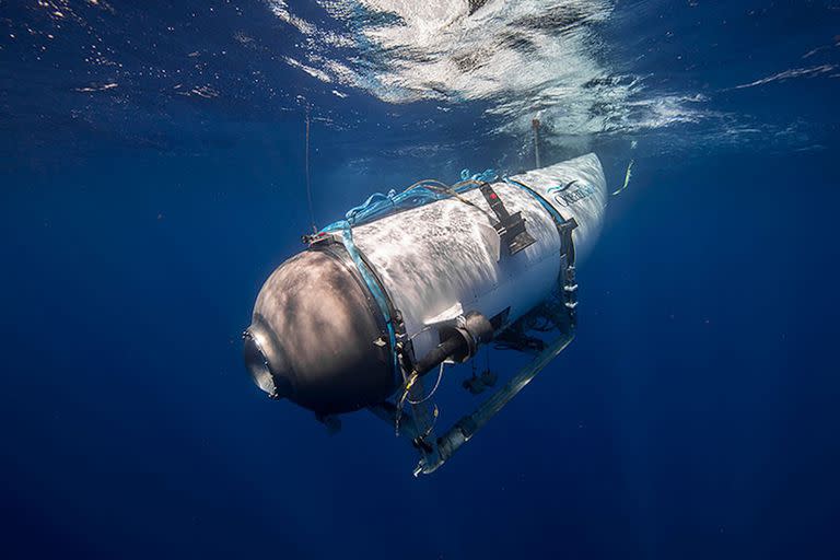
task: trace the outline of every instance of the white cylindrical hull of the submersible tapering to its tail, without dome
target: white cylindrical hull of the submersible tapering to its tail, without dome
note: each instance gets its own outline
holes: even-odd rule
[[[542,167],[511,179],[540,195],[564,219],[574,219],[576,258],[591,250],[604,217],[607,188],[594,154]],[[438,326],[477,311],[490,318],[510,307],[508,323],[544,301],[558,281],[561,240],[551,214],[526,189],[495,183],[493,189],[510,213],[522,212],[536,242],[506,255],[482,194],[440,200],[353,229],[353,240],[378,276],[416,357],[440,341]]]

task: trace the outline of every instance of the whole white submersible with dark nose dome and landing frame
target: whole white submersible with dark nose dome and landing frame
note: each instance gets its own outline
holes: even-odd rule
[[[416,472],[434,470],[571,340],[575,266],[606,202],[593,153],[371,197],[306,236],[308,247],[265,282],[243,337],[246,366],[269,396],[322,420],[362,408],[397,427],[402,418],[421,453]],[[560,342],[529,335],[539,318]],[[438,438],[422,380],[487,343],[534,362]]]

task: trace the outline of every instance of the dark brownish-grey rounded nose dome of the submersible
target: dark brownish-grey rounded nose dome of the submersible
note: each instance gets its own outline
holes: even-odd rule
[[[307,250],[262,285],[244,335],[245,364],[269,395],[318,413],[349,412],[396,389],[387,340],[382,313],[349,258]]]

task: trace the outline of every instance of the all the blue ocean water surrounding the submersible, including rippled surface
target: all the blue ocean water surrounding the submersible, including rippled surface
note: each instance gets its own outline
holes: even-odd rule
[[[3,557],[840,557],[839,34],[832,0],[0,2]],[[634,162],[578,338],[432,476],[244,370],[307,114],[322,225],[533,167],[535,117],[545,163]]]

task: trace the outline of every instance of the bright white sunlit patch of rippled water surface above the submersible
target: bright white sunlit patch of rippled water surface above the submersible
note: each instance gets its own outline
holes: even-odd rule
[[[611,1],[474,1],[470,13],[467,0],[320,0],[339,31],[303,21],[284,0],[268,1],[306,37],[305,63],[290,65],[387,103],[487,102],[499,132],[527,131],[535,115],[567,137],[711,116],[704,97],[646,96],[644,78],[603,60]]]

